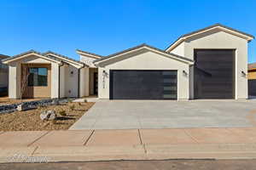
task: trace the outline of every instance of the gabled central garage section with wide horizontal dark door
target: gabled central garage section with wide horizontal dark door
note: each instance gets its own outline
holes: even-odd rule
[[[142,44],[95,63],[100,99],[189,99],[190,59]]]

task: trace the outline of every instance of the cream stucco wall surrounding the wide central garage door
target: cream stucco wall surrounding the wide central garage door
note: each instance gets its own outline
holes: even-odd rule
[[[124,56],[124,58],[126,57],[128,56]],[[98,90],[100,99],[109,99],[109,70],[177,70],[177,99],[189,99],[189,77],[183,75],[183,71],[189,73],[188,64],[151,51],[138,52],[126,59],[119,59],[112,59],[112,64],[99,66]],[[103,71],[107,72],[107,77],[103,77]]]

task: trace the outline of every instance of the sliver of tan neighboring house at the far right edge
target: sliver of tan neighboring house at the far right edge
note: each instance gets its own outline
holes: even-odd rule
[[[256,96],[256,63],[248,65],[248,94]]]

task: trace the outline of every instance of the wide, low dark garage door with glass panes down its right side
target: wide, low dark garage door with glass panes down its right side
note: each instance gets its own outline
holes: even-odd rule
[[[177,99],[177,71],[110,71],[110,99]]]

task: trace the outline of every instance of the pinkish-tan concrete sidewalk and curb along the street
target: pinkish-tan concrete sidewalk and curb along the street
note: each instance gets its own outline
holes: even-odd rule
[[[0,132],[0,161],[256,158],[256,127]]]

